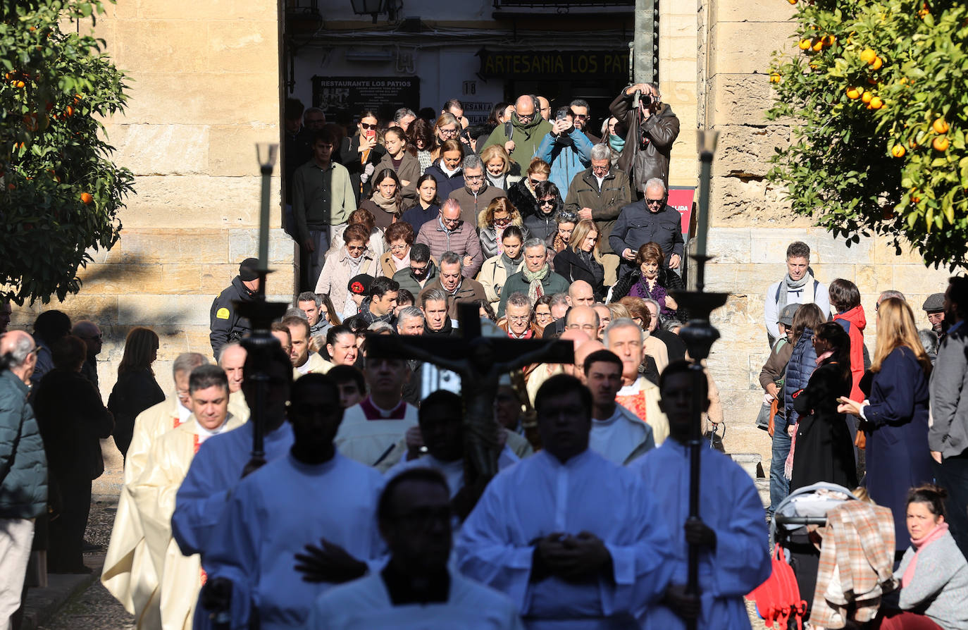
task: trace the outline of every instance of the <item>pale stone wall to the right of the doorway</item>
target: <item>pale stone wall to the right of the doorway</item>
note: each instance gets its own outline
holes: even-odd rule
[[[708,267],[707,288],[732,293],[726,307],[713,314],[722,338],[713,345],[710,370],[725,407],[727,449],[762,454],[766,469],[769,436],[753,427],[763,398],[758,377],[769,355],[763,307],[767,287],[786,272],[787,245],[801,240],[810,246],[811,266],[821,282],[844,278],[860,287],[871,353],[880,291],[904,292],[919,326],[929,327],[921,305],[928,294],[944,290],[949,276],[925,268],[918,255],[896,254],[883,238],[847,247],[843,239],[811,227],[808,219],[794,217],[782,191],[766,181],[774,148],[790,141],[789,126],[767,121],[764,112],[772,96],[771,53],[795,45],[789,39],[794,14],[795,7],[781,0],[700,0],[695,46],[698,124],[721,133],[712,168],[709,234],[709,254],[716,258]],[[691,157],[695,169],[694,145],[688,151],[682,147],[681,157],[683,162]]]

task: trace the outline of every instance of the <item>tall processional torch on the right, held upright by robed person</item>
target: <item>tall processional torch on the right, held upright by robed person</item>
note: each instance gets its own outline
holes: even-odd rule
[[[699,485],[700,485],[700,455],[703,448],[709,448],[703,441],[703,409],[705,401],[702,400],[704,381],[706,374],[703,372],[703,360],[710,355],[712,344],[719,339],[717,331],[710,323],[710,314],[713,310],[726,304],[728,293],[707,293],[706,286],[706,263],[711,260],[710,255],[706,254],[706,236],[710,225],[710,180],[712,170],[712,154],[716,149],[716,141],[719,132],[700,131],[699,132],[699,217],[696,221],[696,248],[695,254],[690,257],[696,262],[696,290],[676,291],[675,298],[681,308],[686,309],[690,314],[688,323],[680,329],[680,337],[689,350],[689,356],[693,360],[691,373],[693,379],[692,386],[692,412],[689,427],[689,521],[698,521],[699,515]],[[686,582],[686,593],[699,596],[699,546],[689,544],[688,556],[688,579]],[[696,619],[689,619],[686,623],[689,630],[695,630]]]

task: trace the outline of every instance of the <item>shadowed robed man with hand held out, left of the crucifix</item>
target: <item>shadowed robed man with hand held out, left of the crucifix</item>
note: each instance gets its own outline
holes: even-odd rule
[[[334,583],[364,574],[383,556],[376,509],[383,477],[338,453],[333,445],[343,409],[324,375],[292,385],[288,407],[295,436],[290,452],[240,481],[204,556],[208,582],[196,611],[197,627],[211,612],[228,613],[229,627],[301,627],[316,596]],[[309,582],[296,555],[319,538],[348,555],[348,572]]]

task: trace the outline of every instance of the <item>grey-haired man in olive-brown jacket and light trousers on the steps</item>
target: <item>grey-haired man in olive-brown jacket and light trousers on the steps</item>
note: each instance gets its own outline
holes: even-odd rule
[[[575,175],[564,196],[564,209],[590,219],[598,228],[598,245],[605,267],[605,285],[614,285],[620,262],[620,252],[609,243],[621,209],[632,202],[632,185],[628,175],[612,165],[611,149],[606,144],[591,147],[591,165]]]

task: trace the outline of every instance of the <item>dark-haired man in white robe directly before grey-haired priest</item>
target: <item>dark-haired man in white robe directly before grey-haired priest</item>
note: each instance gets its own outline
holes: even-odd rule
[[[626,465],[655,448],[652,428],[615,401],[621,387],[621,359],[596,350],[584,361],[591,391],[589,448],[612,464]]]

